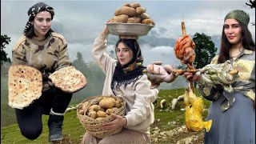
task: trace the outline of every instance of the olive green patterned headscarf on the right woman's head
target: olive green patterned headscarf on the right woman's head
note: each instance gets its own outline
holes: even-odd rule
[[[242,22],[246,26],[248,26],[248,24],[250,22],[249,14],[247,14],[243,10],[232,10],[232,11],[230,11],[229,14],[226,14],[226,17],[225,17],[224,21],[226,21],[226,19],[235,19],[239,22]]]

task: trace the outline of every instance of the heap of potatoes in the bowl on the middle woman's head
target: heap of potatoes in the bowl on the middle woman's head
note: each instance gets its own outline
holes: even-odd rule
[[[146,9],[139,3],[126,3],[118,10],[115,10],[114,15],[114,18],[111,18],[110,22],[155,25],[150,15],[146,14]]]

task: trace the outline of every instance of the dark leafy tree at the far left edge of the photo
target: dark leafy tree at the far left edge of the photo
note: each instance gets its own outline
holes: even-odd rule
[[[5,50],[6,45],[9,45],[10,43],[10,37],[8,37],[6,34],[1,35],[1,66],[3,62],[10,62],[10,58],[7,57],[7,53]]]

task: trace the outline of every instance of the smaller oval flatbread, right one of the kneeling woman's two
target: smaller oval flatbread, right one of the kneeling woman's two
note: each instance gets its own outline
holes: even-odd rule
[[[86,77],[74,66],[66,66],[55,71],[49,76],[54,86],[66,93],[74,93],[84,88],[87,84]]]

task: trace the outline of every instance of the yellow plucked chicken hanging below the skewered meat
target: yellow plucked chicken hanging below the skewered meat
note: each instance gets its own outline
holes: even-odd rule
[[[203,101],[202,98],[196,97],[192,90],[186,88],[184,95],[184,102],[186,105],[185,124],[190,131],[201,131],[206,128],[210,130],[212,120],[207,122],[202,121]]]

